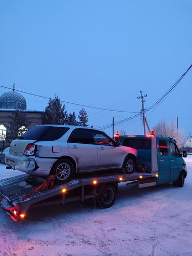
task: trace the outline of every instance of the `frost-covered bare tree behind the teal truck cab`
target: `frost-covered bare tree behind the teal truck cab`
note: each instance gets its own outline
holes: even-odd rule
[[[181,130],[176,129],[174,121],[172,121],[171,124],[167,124],[166,120],[162,120],[154,127],[154,130],[157,136],[173,138],[176,140],[177,146],[180,149],[183,148],[185,137]]]

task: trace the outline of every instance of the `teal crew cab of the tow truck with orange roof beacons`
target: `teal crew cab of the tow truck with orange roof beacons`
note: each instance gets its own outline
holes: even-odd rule
[[[180,153],[174,139],[154,134],[145,136],[116,134],[115,140],[119,140],[120,145],[138,150],[138,171],[152,172],[153,176],[157,177],[156,184],[170,182],[176,184],[186,178],[187,169],[183,157],[187,154],[186,151]]]

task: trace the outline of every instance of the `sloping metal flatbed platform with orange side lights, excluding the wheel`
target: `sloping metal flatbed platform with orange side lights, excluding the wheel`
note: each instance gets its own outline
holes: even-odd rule
[[[138,182],[146,180],[147,182],[154,183],[156,179],[152,176],[152,173],[105,173],[105,174],[87,174],[87,176],[76,177],[75,179],[68,181],[63,184],[55,184],[51,188],[46,188],[43,191],[37,191],[33,195],[26,199],[24,196],[32,192],[40,184],[44,183],[46,179],[37,177],[31,174],[22,174],[20,176],[11,177],[8,179],[0,180],[0,207],[3,208],[10,217],[19,221],[21,216],[24,217],[26,211],[33,205],[39,204],[40,202],[46,203],[47,199],[56,198],[60,195],[58,203],[64,204],[66,201],[74,201],[88,198],[97,197],[97,190],[95,187],[100,184],[116,183],[119,182]],[[94,187],[89,194],[85,193],[85,187]],[[74,197],[65,197],[68,192],[80,188],[80,193]]]

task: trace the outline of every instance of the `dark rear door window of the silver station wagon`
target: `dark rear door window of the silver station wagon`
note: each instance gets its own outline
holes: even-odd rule
[[[82,144],[95,144],[93,136],[88,129],[74,129],[67,142],[82,143]]]

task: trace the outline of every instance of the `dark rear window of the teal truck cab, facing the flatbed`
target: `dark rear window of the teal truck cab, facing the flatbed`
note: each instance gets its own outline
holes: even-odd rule
[[[152,148],[152,140],[147,139],[125,139],[124,146],[133,147],[137,150],[150,150]]]

